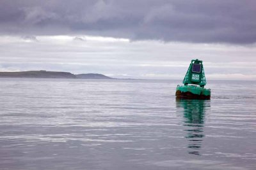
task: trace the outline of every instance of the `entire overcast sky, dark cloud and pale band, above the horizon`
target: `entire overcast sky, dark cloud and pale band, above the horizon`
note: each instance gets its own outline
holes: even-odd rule
[[[0,71],[256,80],[256,1],[0,1]]]

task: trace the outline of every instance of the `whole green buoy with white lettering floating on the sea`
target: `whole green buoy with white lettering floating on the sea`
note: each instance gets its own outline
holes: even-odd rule
[[[204,66],[202,60],[191,60],[182,86],[177,85],[176,97],[187,99],[210,99],[211,89],[205,89],[206,85]]]

